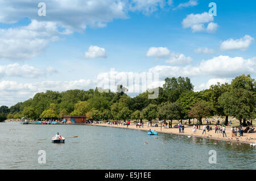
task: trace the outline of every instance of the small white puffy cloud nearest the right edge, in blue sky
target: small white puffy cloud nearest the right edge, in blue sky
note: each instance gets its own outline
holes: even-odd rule
[[[250,44],[253,43],[254,38],[250,35],[245,35],[241,39],[228,39],[221,43],[221,50],[246,50],[250,47]]]

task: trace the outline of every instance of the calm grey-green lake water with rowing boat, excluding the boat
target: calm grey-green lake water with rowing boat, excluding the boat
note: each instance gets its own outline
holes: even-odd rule
[[[50,138],[59,132],[64,144]],[[91,125],[0,123],[0,169],[255,169],[255,148],[228,143]],[[145,144],[147,142],[148,144]],[[39,150],[46,163],[39,164]],[[209,151],[217,163],[210,164]]]

